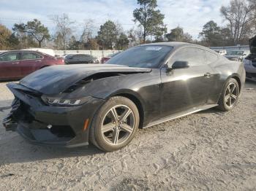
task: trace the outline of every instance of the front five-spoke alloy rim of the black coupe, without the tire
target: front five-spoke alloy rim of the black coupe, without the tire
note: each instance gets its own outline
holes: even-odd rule
[[[108,144],[122,144],[132,134],[135,127],[135,114],[128,106],[113,106],[102,120],[102,136]]]

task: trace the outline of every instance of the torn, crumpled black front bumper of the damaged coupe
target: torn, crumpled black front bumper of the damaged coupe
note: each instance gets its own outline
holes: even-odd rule
[[[7,85],[15,95],[10,114],[4,119],[6,130],[16,130],[34,144],[80,147],[89,144],[89,127],[97,109],[105,102],[90,98],[81,106],[47,106],[27,87]],[[87,122],[88,123],[88,122]]]

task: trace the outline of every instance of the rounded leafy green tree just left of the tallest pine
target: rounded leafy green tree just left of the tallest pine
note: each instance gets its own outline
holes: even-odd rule
[[[113,45],[116,44],[117,37],[118,30],[113,21],[108,20],[104,25],[100,26],[97,40],[102,46],[102,50],[105,50],[105,48],[113,49]]]

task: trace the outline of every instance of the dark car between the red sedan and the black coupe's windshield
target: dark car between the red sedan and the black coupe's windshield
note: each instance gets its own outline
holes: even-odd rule
[[[64,60],[66,64],[99,63],[98,58],[92,55],[86,55],[86,54],[66,55]]]

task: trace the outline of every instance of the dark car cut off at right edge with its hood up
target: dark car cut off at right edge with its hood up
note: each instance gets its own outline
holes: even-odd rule
[[[249,39],[250,54],[244,58],[246,77],[256,79],[256,36]]]

